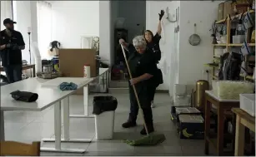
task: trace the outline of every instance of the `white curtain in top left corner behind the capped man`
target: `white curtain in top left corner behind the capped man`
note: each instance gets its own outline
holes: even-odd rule
[[[13,19],[12,1],[1,1],[1,30],[5,29],[3,20],[6,18]]]

